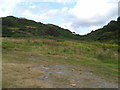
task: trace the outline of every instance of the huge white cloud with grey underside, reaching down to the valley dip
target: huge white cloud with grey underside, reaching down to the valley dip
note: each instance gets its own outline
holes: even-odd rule
[[[71,22],[70,27],[79,34],[86,34],[117,17],[118,1],[78,0],[76,5],[68,10],[64,20]]]

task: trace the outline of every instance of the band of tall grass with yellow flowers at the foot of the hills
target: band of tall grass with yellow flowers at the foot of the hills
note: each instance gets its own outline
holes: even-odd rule
[[[118,45],[87,43],[80,41],[57,41],[50,39],[3,40],[3,50],[37,50],[48,54],[76,54],[95,57],[98,60],[117,60]]]

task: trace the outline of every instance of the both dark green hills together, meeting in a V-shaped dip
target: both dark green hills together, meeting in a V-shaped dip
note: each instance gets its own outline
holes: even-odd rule
[[[53,24],[43,24],[25,18],[7,16],[2,18],[3,37],[56,37],[64,39],[87,40],[117,43],[120,30],[120,17],[111,21],[103,28],[92,31],[87,35],[73,34],[68,29],[63,29]]]

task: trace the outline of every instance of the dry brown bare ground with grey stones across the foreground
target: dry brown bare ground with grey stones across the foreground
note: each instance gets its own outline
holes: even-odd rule
[[[12,59],[9,57],[11,61],[8,58],[7,61],[3,60],[3,87],[5,88],[118,88],[117,83],[103,80],[85,68],[46,60],[40,54],[37,54],[39,57],[24,52],[20,55],[24,58],[21,62],[14,61],[13,57]]]

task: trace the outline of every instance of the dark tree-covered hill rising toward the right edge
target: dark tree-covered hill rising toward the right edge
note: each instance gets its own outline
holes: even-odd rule
[[[92,31],[91,33],[84,35],[83,38],[87,40],[94,40],[100,42],[117,43],[119,39],[120,31],[120,17],[117,21],[111,21],[103,28]]]

